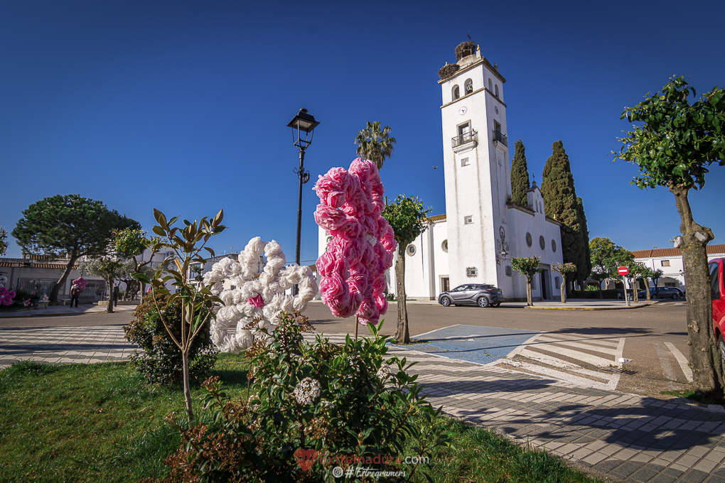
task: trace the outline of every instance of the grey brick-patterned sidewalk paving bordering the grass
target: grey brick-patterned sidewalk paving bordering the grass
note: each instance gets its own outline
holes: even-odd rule
[[[328,335],[334,343],[344,335]],[[314,334],[306,335],[313,338]],[[121,327],[0,329],[0,367],[18,359],[122,361]],[[423,392],[472,424],[626,482],[725,482],[725,412],[473,364],[407,348]]]

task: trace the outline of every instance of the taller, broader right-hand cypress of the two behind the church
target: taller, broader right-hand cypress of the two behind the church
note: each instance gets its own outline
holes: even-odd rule
[[[577,198],[569,157],[561,140],[552,144],[552,154],[542,173],[544,211],[548,217],[562,224],[561,244],[564,263],[576,265],[576,280],[584,287],[591,271],[589,232],[584,203]]]

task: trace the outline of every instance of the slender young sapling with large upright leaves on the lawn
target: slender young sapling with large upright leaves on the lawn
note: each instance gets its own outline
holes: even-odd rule
[[[158,224],[154,225],[153,232],[161,237],[161,241],[154,244],[152,250],[159,251],[161,248],[171,248],[175,253],[175,257],[167,257],[166,261],[173,259],[176,270],[169,269],[167,270],[169,275],[162,277],[163,269],[159,269],[154,274],[153,279],[143,273],[136,272],[133,274],[134,280],[151,285],[154,295],[156,293],[167,295],[167,303],[178,301],[181,304],[181,317],[170,319],[158,305],[155,296],[153,298],[157,306],[159,319],[164,324],[171,340],[181,351],[183,392],[186,400],[186,412],[190,421],[194,419],[194,408],[191,403],[191,390],[188,382],[188,356],[191,352],[191,346],[194,344],[194,339],[204,327],[207,327],[207,322],[214,316],[212,304],[216,302],[223,305],[223,302],[212,293],[210,286],[203,284],[197,286],[190,283],[188,277],[189,266],[192,263],[204,263],[202,256],[199,256],[199,252],[202,250],[206,250],[211,256],[214,256],[214,251],[207,247],[206,244],[213,235],[218,235],[225,229],[225,226],[221,224],[223,217],[224,211],[219,210],[219,213],[210,219],[204,217],[198,221],[194,220],[194,222],[184,219],[184,227],[178,228],[174,227],[173,224],[179,217],[173,217],[167,221],[166,216],[154,208],[154,218],[156,218]],[[199,243],[201,245],[197,246]],[[170,280],[173,280],[171,285],[176,287],[177,290],[173,294],[165,285]],[[177,323],[178,326],[174,326],[174,323]],[[181,337],[176,337],[178,333],[181,333]]]

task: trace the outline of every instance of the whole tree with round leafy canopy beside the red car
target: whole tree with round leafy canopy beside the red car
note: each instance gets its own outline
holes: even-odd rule
[[[712,164],[725,164],[725,88],[714,87],[693,104],[695,97],[684,77],[671,77],[662,90],[650,94],[634,107],[626,107],[621,119],[634,123],[614,159],[636,164],[639,174],[631,181],[637,188],[663,186],[675,197],[680,215],[678,245],[687,280],[687,332],[695,392],[722,396],[725,340],[716,340],[708,278],[706,246],[713,240],[710,228],[695,222],[689,190],[705,186]]]

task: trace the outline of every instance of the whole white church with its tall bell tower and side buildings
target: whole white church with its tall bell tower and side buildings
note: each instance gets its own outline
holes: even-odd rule
[[[528,206],[510,201],[506,80],[480,47],[464,51],[447,70],[455,72],[439,80],[446,213],[429,217],[428,230],[406,248],[407,297],[436,300],[445,290],[476,283],[499,287],[507,301],[525,301],[526,279],[510,260],[539,256],[543,272],[532,282],[534,300],[558,298],[561,276],[552,266],[563,261],[560,223],[546,216],[536,183],[526,193]],[[320,254],[328,238],[320,228]]]

